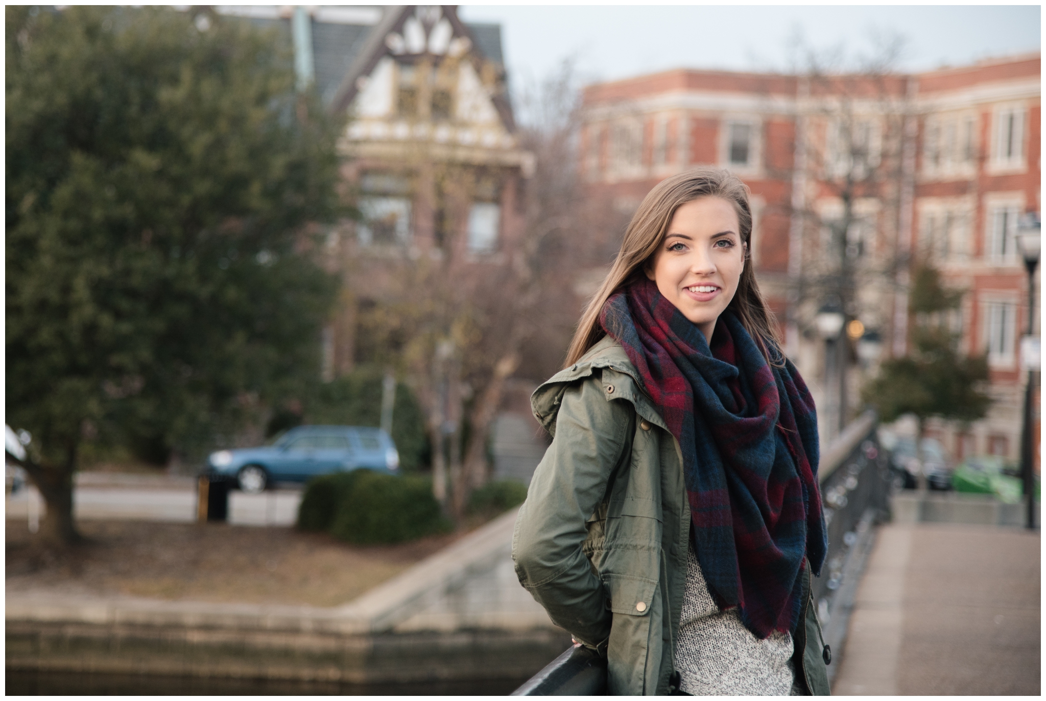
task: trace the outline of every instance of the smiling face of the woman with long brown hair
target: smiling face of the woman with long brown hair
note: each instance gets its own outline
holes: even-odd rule
[[[705,196],[676,210],[645,273],[710,343],[744,267],[736,210],[727,200]]]

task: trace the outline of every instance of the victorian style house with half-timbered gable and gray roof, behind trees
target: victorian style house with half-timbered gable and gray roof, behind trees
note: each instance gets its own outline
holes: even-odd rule
[[[403,284],[404,256],[446,275],[502,260],[522,226],[519,147],[496,24],[461,22],[454,6],[225,6],[293,47],[299,84],[347,113],[338,145],[362,218],[327,236],[344,273],[325,330],[324,376],[350,371],[366,338],[359,316]]]

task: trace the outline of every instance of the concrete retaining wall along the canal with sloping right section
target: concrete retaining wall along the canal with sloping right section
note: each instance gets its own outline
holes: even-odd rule
[[[516,580],[516,510],[337,608],[8,597],[9,671],[353,684],[523,679],[570,637]]]

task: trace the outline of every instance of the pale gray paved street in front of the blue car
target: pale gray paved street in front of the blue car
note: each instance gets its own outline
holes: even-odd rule
[[[87,476],[87,475],[85,475]],[[124,475],[118,475],[124,476]],[[133,478],[79,480],[73,497],[76,518],[127,518],[191,522],[197,518],[196,481]],[[235,525],[291,525],[298,515],[300,489],[280,488],[263,494],[229,493],[229,522]],[[32,487],[6,499],[7,518],[29,519],[44,513],[44,500]]]

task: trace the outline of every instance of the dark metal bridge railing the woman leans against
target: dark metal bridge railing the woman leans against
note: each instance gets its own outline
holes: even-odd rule
[[[889,509],[889,460],[876,436],[878,421],[866,412],[821,453],[818,478],[828,529],[828,554],[814,579],[814,602],[824,625],[825,642],[841,647],[848,611],[839,592],[856,586],[860,558],[868,547],[871,525]],[[837,605],[838,603],[843,606]],[[836,665],[838,667],[838,665]],[[831,673],[834,671],[829,665]],[[601,696],[607,693],[607,660],[583,646],[569,648],[513,692],[513,696]]]

